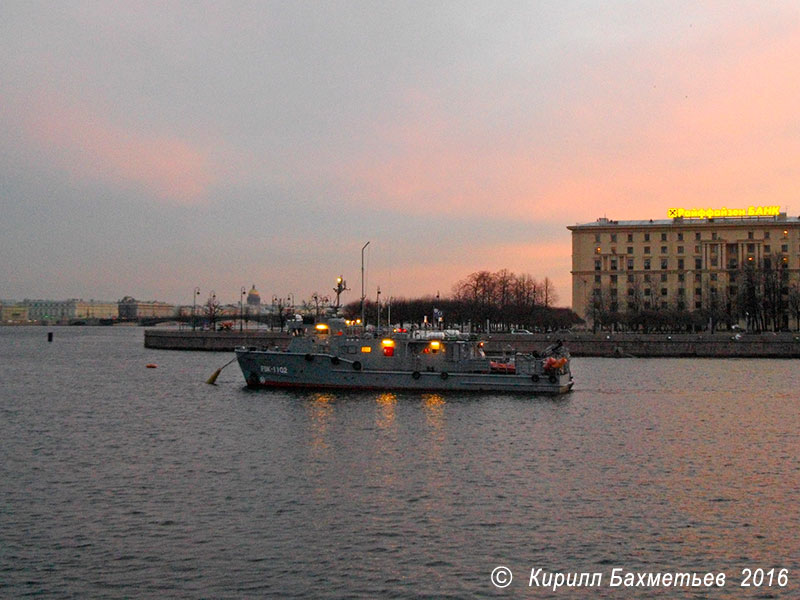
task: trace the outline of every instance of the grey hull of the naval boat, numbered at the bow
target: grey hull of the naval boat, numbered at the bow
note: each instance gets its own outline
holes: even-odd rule
[[[569,374],[407,371],[374,369],[329,354],[237,350],[251,388],[502,392],[559,395],[572,389]]]

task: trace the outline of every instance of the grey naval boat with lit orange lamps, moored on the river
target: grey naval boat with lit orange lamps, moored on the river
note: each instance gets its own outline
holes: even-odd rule
[[[236,348],[248,387],[564,394],[572,388],[561,343],[541,354],[493,361],[475,336],[365,332],[344,319],[298,328],[287,350]]]

